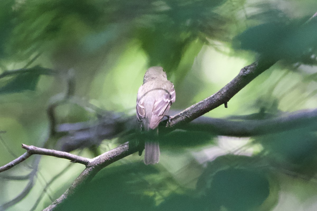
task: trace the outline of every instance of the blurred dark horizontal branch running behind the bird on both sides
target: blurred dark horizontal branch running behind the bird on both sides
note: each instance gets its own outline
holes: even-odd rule
[[[179,113],[171,111],[171,113]],[[111,136],[117,137],[120,133],[132,129],[135,124],[136,116],[131,118],[117,118],[113,120],[113,125],[105,121],[95,122],[93,126],[88,126],[87,122],[63,124],[63,132],[70,130],[71,134],[65,135],[61,139],[74,141],[75,143],[88,143],[92,139],[104,140],[109,139],[109,127]],[[124,124],[125,127],[119,127],[120,124]],[[163,122],[162,122],[163,123]],[[95,133],[91,133],[91,127],[98,127],[100,129],[95,130]],[[236,137],[256,136],[268,133],[276,133],[287,131],[296,128],[317,128],[317,109],[300,110],[291,113],[281,113],[279,115],[271,115],[267,113],[255,113],[251,115],[235,116],[235,120],[232,119],[218,119],[200,116],[197,119],[191,121],[188,124],[178,125],[176,128],[184,129],[187,131],[204,131],[213,133],[215,135],[226,135]],[[164,124],[159,128],[162,133],[168,133],[173,128],[166,128]],[[131,130],[131,132],[133,132]],[[77,144],[76,144],[77,145]]]

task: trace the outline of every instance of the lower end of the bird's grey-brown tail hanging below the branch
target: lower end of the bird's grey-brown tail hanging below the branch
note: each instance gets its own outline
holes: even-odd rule
[[[159,162],[159,141],[146,141],[145,142],[145,152],[144,152],[144,163],[156,164]]]

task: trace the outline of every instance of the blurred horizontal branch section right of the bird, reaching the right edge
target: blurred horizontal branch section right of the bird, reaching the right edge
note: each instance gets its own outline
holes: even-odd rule
[[[185,130],[206,131],[217,135],[247,137],[288,131],[296,128],[317,128],[317,109],[285,113],[264,120],[231,121],[199,117],[179,126]]]

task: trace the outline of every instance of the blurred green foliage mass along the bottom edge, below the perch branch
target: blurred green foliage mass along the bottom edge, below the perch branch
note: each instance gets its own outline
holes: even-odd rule
[[[57,210],[258,210],[276,192],[270,191],[274,184],[267,169],[250,162],[254,160],[241,156],[217,158],[208,163],[195,190],[179,187],[173,175],[162,175],[154,166],[122,164],[100,172]],[[178,191],[171,191],[174,187]],[[164,201],[156,204],[158,197]]]

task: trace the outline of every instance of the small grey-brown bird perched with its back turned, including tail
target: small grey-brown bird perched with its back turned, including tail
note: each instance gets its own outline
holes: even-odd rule
[[[174,85],[167,80],[162,67],[150,67],[143,78],[137,96],[137,119],[141,129],[154,130],[158,127],[171,104],[175,102]],[[159,142],[145,141],[145,164],[159,162]]]

